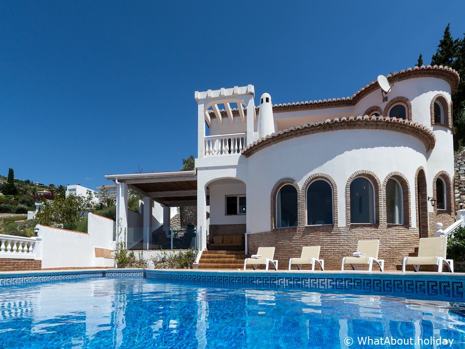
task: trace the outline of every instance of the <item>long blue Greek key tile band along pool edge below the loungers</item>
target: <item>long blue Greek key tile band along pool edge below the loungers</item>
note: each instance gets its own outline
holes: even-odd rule
[[[379,275],[240,275],[206,273],[176,273],[146,271],[147,279],[169,283],[196,284],[207,286],[241,286],[257,288],[288,288],[306,290],[332,290],[354,293],[368,293],[389,296],[414,296],[415,298],[440,297],[465,301],[465,278],[461,277],[399,277]]]

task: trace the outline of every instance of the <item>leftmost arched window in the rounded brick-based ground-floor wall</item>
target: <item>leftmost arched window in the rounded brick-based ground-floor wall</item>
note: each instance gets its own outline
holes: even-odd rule
[[[276,227],[297,226],[297,190],[286,184],[278,191],[276,197]]]

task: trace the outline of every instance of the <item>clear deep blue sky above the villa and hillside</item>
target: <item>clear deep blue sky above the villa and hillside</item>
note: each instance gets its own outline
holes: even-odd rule
[[[462,0],[0,0],[0,174],[94,189],[179,170],[197,156],[194,91],[350,96],[431,63],[448,23],[464,37]]]

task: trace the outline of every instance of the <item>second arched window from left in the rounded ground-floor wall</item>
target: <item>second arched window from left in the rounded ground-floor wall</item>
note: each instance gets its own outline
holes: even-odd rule
[[[307,224],[334,224],[333,190],[325,180],[315,180],[307,188]]]

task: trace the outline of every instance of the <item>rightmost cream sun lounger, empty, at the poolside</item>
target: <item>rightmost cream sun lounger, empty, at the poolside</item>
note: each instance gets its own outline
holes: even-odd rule
[[[405,257],[402,262],[402,272],[405,266],[411,265],[418,271],[420,265],[437,265],[437,272],[442,272],[442,264],[446,263],[450,272],[454,272],[454,261],[446,259],[447,238],[420,238],[418,243],[418,256]]]

